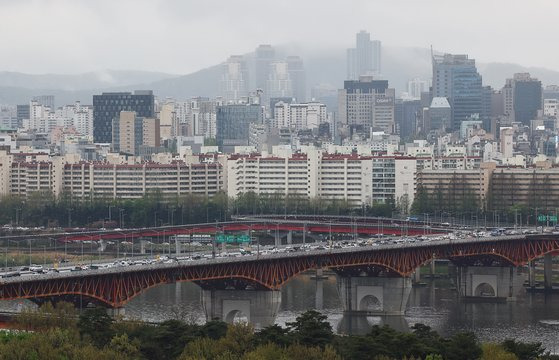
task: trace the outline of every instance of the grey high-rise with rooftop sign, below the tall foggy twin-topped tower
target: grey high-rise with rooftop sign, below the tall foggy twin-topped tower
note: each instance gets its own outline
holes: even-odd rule
[[[340,123],[393,133],[394,93],[387,80],[373,80],[372,76],[344,81],[338,92]]]

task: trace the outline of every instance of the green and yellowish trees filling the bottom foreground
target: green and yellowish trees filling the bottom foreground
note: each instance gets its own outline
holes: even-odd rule
[[[420,324],[409,333],[374,326],[364,336],[339,336],[326,320],[311,310],[286,327],[255,331],[248,324],[220,321],[197,325],[115,320],[101,308],[78,317],[69,304],[46,304],[17,318],[16,325],[31,332],[0,333],[0,359],[558,359],[539,343],[480,344],[472,333],[445,338]]]

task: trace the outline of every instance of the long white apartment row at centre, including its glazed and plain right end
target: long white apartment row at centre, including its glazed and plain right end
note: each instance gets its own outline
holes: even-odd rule
[[[401,156],[328,154],[231,155],[227,192],[299,195],[346,200],[353,206],[399,203],[411,205],[416,189],[416,160]]]

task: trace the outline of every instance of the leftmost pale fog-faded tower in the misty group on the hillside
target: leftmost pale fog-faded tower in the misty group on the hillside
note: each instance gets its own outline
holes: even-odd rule
[[[230,56],[222,65],[219,93],[225,101],[235,102],[248,94],[249,75],[245,59],[241,55]]]

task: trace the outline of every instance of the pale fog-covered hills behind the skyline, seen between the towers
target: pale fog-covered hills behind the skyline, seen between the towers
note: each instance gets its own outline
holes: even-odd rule
[[[278,57],[300,55],[304,59],[307,87],[329,84],[341,88],[346,76],[345,49],[307,52],[295,46],[277,46]],[[471,55],[475,57],[474,55]],[[225,59],[224,59],[225,60]],[[505,79],[516,72],[530,72],[545,85],[559,84],[559,72],[524,67],[510,63],[478,63],[484,85],[501,88]],[[383,46],[383,78],[405,91],[407,81],[414,77],[431,77],[431,52],[425,48]],[[216,96],[220,78],[219,64],[187,75],[163,72],[105,70],[76,75],[33,75],[0,72],[0,104],[25,104],[35,95],[54,95],[56,105],[80,100],[91,104],[92,95],[103,91],[152,89],[159,98],[186,99],[192,96]]]

